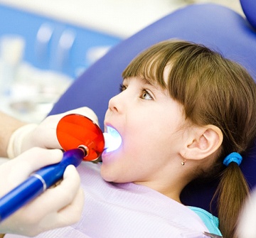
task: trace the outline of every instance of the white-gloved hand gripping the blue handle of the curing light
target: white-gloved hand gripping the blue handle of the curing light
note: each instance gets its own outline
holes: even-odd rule
[[[22,183],[33,171],[58,163],[62,158],[63,153],[58,149],[31,148],[2,164],[0,196]],[[71,225],[80,220],[83,202],[80,176],[74,166],[68,166],[59,185],[49,188],[1,222],[0,233],[35,236],[48,229]]]

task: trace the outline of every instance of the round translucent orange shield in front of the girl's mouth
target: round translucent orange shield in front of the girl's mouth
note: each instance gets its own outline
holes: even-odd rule
[[[88,150],[87,156],[83,158],[85,161],[94,161],[104,150],[105,141],[100,127],[85,116],[69,114],[63,117],[58,122],[56,133],[65,151],[86,146]]]

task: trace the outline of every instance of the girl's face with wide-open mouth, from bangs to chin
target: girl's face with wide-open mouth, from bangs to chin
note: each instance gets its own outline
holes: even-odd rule
[[[122,144],[102,154],[102,177],[116,183],[163,182],[174,165],[182,167],[184,124],[182,107],[167,90],[138,77],[125,79],[105,115],[105,131],[108,126],[116,129]]]

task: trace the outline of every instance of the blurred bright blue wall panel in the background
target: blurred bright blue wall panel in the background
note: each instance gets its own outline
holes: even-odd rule
[[[111,47],[122,40],[1,4],[0,20],[0,38],[5,35],[18,35],[26,40],[23,60],[40,69],[63,72],[70,77],[77,77],[79,70],[90,65],[90,60],[85,57],[88,50]],[[48,41],[37,40],[39,29],[52,33]],[[70,48],[61,44],[63,39],[70,40]]]

